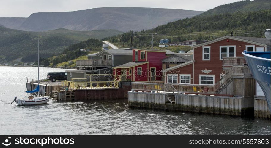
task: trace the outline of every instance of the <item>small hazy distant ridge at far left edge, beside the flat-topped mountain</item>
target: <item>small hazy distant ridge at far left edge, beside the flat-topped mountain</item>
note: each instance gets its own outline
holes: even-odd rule
[[[7,28],[17,29],[26,19],[26,17],[0,17],[0,24]]]

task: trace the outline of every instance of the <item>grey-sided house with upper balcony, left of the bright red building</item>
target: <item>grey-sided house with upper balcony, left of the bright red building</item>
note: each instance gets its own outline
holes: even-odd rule
[[[87,60],[76,61],[76,70],[66,70],[68,81],[86,78],[86,74],[112,74],[112,67],[132,61],[132,48],[103,49],[86,56]]]

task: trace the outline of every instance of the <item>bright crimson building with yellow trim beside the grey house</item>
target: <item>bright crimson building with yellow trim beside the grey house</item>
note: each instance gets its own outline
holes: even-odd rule
[[[161,81],[162,59],[167,50],[133,49],[133,61],[113,67],[113,75],[121,75],[122,80]]]

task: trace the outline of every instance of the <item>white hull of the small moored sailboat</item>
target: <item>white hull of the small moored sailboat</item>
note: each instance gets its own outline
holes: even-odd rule
[[[16,100],[18,105],[38,105],[45,104],[49,101],[50,96],[35,97],[33,100],[19,99]]]

